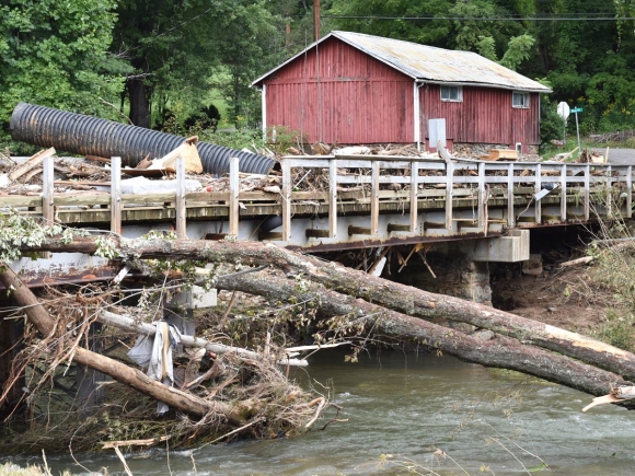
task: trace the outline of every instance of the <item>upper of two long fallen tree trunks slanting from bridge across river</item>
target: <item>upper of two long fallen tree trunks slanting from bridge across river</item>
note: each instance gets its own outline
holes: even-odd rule
[[[215,242],[197,240],[114,241],[124,260],[134,258],[197,259],[213,263],[272,265],[286,274],[321,283],[343,294],[361,298],[409,316],[430,321],[454,321],[513,337],[522,344],[539,346],[581,360],[591,365],[635,380],[635,355],[598,340],[549,324],[531,321],[483,304],[449,295],[435,294],[389,281],[362,271],[324,262],[309,255],[259,242]],[[48,240],[34,251],[94,253],[91,237],[70,245]]]

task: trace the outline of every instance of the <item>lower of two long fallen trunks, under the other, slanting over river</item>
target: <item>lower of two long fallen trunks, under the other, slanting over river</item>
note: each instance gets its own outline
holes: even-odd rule
[[[612,372],[539,347],[523,345],[513,338],[495,335],[492,339],[480,339],[340,294],[315,282],[303,283],[303,290],[299,292],[296,280],[280,277],[270,270],[221,277],[218,288],[258,294],[270,301],[313,302],[326,315],[349,316],[348,324],[363,324],[366,329],[372,329],[376,335],[419,343],[470,362],[516,370],[591,395],[603,395],[615,384],[628,385]]]

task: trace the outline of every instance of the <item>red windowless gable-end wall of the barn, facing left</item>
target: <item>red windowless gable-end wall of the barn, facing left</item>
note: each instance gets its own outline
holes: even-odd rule
[[[264,83],[268,127],[301,131],[309,142],[414,140],[413,80],[336,38]]]

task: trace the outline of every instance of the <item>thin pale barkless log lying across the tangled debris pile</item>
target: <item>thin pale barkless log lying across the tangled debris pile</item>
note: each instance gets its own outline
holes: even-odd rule
[[[109,311],[101,311],[97,315],[97,321],[102,324],[107,324],[124,330],[130,330],[138,334],[153,336],[157,334],[157,327],[152,324],[135,321],[130,316],[115,314]],[[215,353],[233,353],[244,359],[262,360],[263,356],[253,350],[242,349],[240,347],[226,346],[224,344],[210,343],[195,336],[181,336],[181,343],[185,347],[206,348]],[[280,359],[277,363],[280,365],[296,365],[307,367],[309,362],[303,359]]]

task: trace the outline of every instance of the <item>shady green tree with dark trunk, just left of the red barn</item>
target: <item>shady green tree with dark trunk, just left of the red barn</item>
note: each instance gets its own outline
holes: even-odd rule
[[[153,105],[187,116],[208,97],[212,79],[222,82],[227,74],[232,92],[226,96],[232,111],[240,111],[250,80],[272,62],[272,50],[280,50],[281,32],[265,4],[123,0],[113,51],[135,69],[122,94],[129,101],[132,123],[150,127]]]

